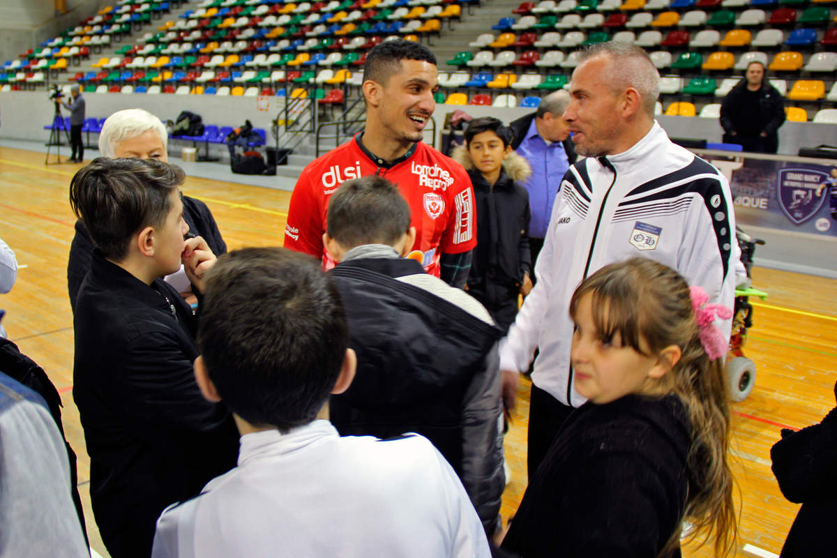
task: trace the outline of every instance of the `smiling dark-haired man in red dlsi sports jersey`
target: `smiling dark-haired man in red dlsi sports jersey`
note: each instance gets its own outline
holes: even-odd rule
[[[290,197],[285,248],[327,259],[328,199],[350,178],[376,174],[398,185],[412,213],[409,257],[429,274],[463,286],[476,246],[474,190],[465,169],[422,141],[439,86],[436,57],[419,43],[385,41],[363,66],[364,130],[302,171]]]

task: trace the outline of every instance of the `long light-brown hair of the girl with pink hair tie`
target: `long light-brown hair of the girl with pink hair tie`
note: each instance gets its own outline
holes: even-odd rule
[[[714,529],[716,555],[726,554],[736,533],[732,472],[727,464],[727,385],[723,359],[712,360],[701,342],[689,284],[674,269],[652,259],[632,258],[599,269],[578,286],[570,301],[573,318],[588,294],[593,297],[593,324],[604,338],[619,333],[623,346],[646,355],[659,354],[667,346],[680,348],[680,359],[659,380],[657,392],[680,397],[691,421],[685,516],[696,534],[708,535]],[[641,348],[642,341],[647,351]],[[672,535],[666,548],[676,542]]]

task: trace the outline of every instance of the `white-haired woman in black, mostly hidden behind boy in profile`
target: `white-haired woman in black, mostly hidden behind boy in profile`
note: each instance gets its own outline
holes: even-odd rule
[[[136,157],[168,162],[168,133],[157,116],[147,110],[119,110],[105,120],[99,135],[99,151],[105,157]],[[193,197],[183,196],[183,219],[189,232],[203,237],[216,256],[227,252],[221,233],[207,205]],[[75,236],[69,247],[67,284],[69,304],[75,309],[75,296],[90,269],[93,242],[81,221],[75,222]]]

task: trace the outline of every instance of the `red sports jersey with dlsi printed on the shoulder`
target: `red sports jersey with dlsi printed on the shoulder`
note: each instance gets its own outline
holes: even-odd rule
[[[377,174],[398,185],[416,228],[411,258],[420,259],[439,277],[439,256],[467,252],[476,246],[474,189],[462,166],[423,142],[389,166],[352,138],[312,161],[302,171],[290,197],[285,248],[323,258],[331,267],[322,235],[328,199],[350,178]]]

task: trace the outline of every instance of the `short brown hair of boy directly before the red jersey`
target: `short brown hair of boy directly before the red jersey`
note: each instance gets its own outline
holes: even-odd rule
[[[347,180],[328,202],[327,233],[343,248],[398,243],[410,228],[410,207],[382,177]]]

